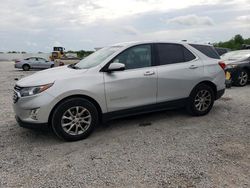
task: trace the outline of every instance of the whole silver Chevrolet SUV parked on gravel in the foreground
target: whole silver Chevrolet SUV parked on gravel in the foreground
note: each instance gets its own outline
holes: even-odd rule
[[[47,124],[60,138],[80,140],[119,117],[178,107],[205,115],[224,94],[224,68],[209,45],[116,44],[19,80],[13,107],[22,127]]]

